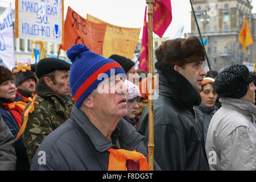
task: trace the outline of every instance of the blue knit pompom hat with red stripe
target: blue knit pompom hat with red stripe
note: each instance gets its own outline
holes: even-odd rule
[[[104,79],[98,79],[101,73],[105,73],[109,77],[113,73],[114,75],[119,73],[125,75],[120,64],[90,51],[84,44],[76,44],[69,48],[67,56],[72,62],[69,84],[77,107],[80,107],[85,98],[98,87],[100,82],[104,81]],[[110,71],[111,69],[112,71]]]

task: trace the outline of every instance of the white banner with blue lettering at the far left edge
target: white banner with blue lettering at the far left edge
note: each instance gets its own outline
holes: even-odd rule
[[[0,65],[10,70],[15,67],[13,26],[10,6],[0,15]]]

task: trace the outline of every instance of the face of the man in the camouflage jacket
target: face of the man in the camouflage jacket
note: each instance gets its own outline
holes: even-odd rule
[[[69,71],[56,70],[54,77],[54,82],[51,88],[53,92],[61,97],[68,96],[70,92]]]

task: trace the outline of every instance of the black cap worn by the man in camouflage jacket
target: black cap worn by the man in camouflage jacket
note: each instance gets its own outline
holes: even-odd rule
[[[66,61],[47,57],[40,60],[36,65],[36,76],[40,78],[55,70],[69,70],[70,66],[71,64],[67,63]]]

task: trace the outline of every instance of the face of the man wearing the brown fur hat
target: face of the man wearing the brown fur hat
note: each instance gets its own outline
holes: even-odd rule
[[[182,67],[178,68],[178,72],[191,83],[196,91],[201,90],[203,78],[207,74],[202,65],[202,61],[196,61],[185,64],[184,69]]]

